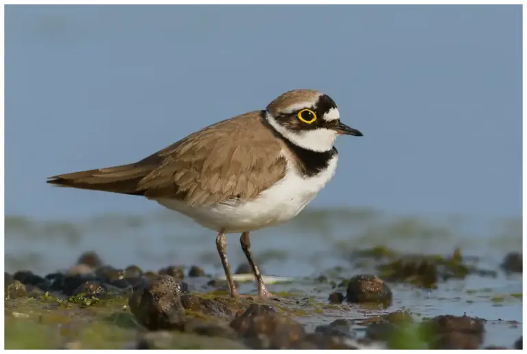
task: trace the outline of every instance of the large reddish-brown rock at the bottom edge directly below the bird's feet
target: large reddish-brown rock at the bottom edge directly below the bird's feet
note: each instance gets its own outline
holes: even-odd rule
[[[266,305],[251,304],[231,327],[252,349],[291,349],[305,337],[301,324]]]

